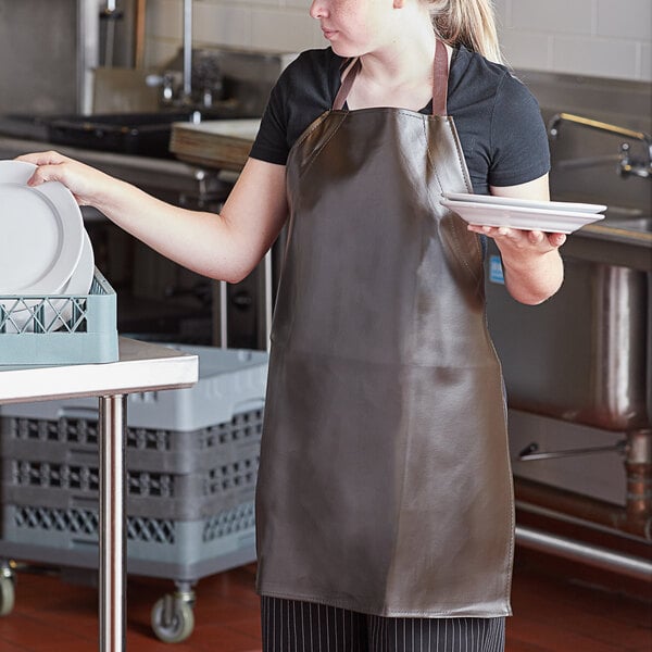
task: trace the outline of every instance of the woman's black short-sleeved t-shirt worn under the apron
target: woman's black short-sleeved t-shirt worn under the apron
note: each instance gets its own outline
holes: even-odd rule
[[[305,128],[333,106],[342,59],[330,48],[308,50],[281,74],[269,96],[251,156],[285,165]],[[429,113],[425,106],[422,113]],[[474,191],[536,179],[550,168],[537,100],[507,68],[464,47],[453,51],[448,113],[457,128]]]

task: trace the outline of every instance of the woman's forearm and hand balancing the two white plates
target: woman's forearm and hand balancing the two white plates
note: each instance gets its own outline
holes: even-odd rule
[[[548,201],[548,175],[519,186],[492,186],[491,195]],[[469,225],[468,229],[493,238],[503,263],[505,287],[516,301],[535,305],[552,297],[564,279],[559,248],[564,234]]]

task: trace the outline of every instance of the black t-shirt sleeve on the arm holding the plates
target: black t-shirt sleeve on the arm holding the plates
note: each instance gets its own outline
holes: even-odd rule
[[[497,91],[490,149],[491,186],[525,184],[550,171],[548,133],[539,104],[527,87],[510,74]]]

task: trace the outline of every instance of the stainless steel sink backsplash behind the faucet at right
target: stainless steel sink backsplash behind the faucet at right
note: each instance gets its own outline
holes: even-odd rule
[[[564,112],[652,134],[652,88],[647,83],[531,71],[517,71],[516,76],[537,97],[547,123]],[[645,158],[641,141],[562,123],[557,137],[550,139],[552,198],[652,214],[652,177],[617,172],[623,142],[630,145],[632,159]]]

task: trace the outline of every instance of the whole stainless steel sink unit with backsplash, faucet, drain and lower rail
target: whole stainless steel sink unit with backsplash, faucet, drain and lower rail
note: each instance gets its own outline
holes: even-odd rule
[[[650,542],[651,89],[542,73],[521,78],[552,131],[552,198],[609,210],[603,222],[568,237],[564,286],[538,306],[507,297],[489,249],[488,319],[505,375],[517,506]],[[617,151],[614,138],[626,147]],[[528,448],[538,451],[519,455]],[[602,568],[650,573],[587,544],[525,530],[519,540]]]

